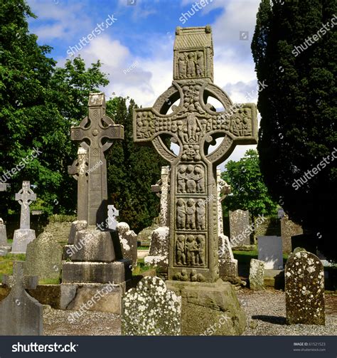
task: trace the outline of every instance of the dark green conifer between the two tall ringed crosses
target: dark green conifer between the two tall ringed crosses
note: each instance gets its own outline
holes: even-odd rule
[[[135,105],[128,98],[113,98],[107,102],[107,114],[117,124],[124,125],[124,140],[115,142],[107,154],[109,199],[119,209],[119,221],[129,223],[139,232],[151,226],[159,213],[159,198],[151,185],[160,179],[161,167],[167,165],[154,148],[133,142],[132,112]]]

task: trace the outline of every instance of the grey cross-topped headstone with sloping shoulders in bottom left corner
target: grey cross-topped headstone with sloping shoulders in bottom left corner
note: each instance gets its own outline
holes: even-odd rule
[[[25,290],[34,290],[38,277],[24,276],[23,262],[14,262],[13,276],[4,275],[3,283],[11,292],[0,302],[0,335],[43,335],[43,305]]]

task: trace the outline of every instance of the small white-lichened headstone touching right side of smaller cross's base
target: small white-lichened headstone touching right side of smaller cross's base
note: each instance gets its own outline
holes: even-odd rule
[[[117,223],[117,233],[119,243],[122,248],[123,258],[129,258],[132,261],[132,267],[137,267],[137,234],[130,230],[127,223]]]

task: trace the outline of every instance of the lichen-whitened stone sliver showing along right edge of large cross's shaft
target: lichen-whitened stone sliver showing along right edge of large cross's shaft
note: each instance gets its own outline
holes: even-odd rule
[[[218,234],[219,234],[219,275],[223,280],[236,280],[239,273],[228,236],[223,233],[223,206],[221,201],[230,194],[230,186],[221,179],[221,171],[217,169],[218,194]]]

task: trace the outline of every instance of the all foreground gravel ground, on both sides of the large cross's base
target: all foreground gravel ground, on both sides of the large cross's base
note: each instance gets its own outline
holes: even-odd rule
[[[247,313],[244,335],[337,335],[337,296],[326,295],[326,325],[286,325],[285,295],[282,291],[239,290],[237,297]],[[43,314],[45,335],[120,335],[119,315],[87,311],[74,318],[78,311],[53,310]],[[68,319],[69,318],[69,319]],[[74,318],[74,322],[70,322]]]

